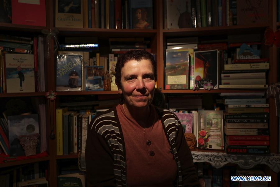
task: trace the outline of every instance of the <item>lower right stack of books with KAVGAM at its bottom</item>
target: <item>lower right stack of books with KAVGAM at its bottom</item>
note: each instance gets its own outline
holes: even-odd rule
[[[265,98],[225,99],[224,131],[228,154],[268,154],[269,104]]]

